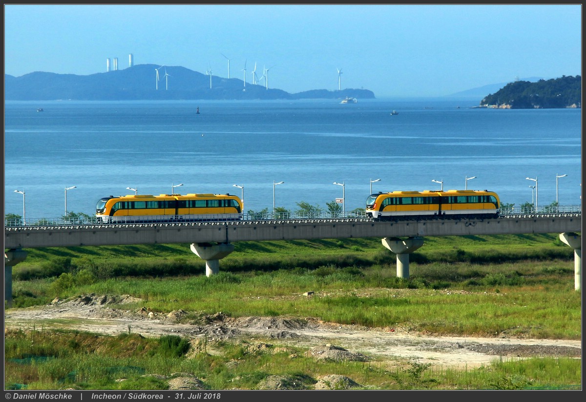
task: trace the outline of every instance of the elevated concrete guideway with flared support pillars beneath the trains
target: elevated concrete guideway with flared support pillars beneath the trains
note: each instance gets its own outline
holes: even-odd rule
[[[219,272],[219,260],[234,250],[231,243],[237,241],[380,237],[383,246],[397,254],[397,276],[408,278],[408,254],[422,247],[427,236],[560,233],[560,239],[574,249],[575,288],[579,289],[581,224],[581,213],[551,213],[398,222],[343,218],[14,226],[4,230],[5,274],[26,258],[24,248],[188,243],[193,253],[206,261],[209,276]]]

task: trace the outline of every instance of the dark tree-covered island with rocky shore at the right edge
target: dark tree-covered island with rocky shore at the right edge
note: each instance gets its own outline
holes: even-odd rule
[[[483,98],[479,107],[495,109],[551,109],[582,107],[582,77],[515,81]]]

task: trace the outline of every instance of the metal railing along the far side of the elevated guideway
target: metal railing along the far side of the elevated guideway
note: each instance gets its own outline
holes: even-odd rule
[[[582,213],[581,205],[560,205],[560,206],[545,206],[534,210],[533,207],[507,207],[501,209],[499,214],[507,215],[527,215],[527,214],[567,214],[567,213]],[[277,213],[244,213],[243,220],[291,220],[291,219],[364,219],[366,213],[364,210],[347,211],[346,213],[331,213],[329,211],[320,212],[277,212]],[[134,217],[135,219],[135,217]],[[217,219],[211,221],[222,222],[225,219],[222,216],[217,216]],[[172,221],[173,222],[173,221]],[[185,220],[178,220],[176,222],[186,222]],[[131,221],[117,222],[117,224],[131,224],[137,223]],[[167,222],[165,222],[167,223]],[[64,225],[79,225],[79,224],[101,224],[94,216],[88,217],[59,217],[59,218],[10,218],[4,219],[5,227],[19,227],[19,226],[64,226]]]

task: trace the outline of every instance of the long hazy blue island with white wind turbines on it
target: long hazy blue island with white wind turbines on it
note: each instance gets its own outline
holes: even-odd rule
[[[78,76],[36,71],[15,77],[4,75],[4,99],[41,100],[295,100],[374,99],[373,91],[311,90],[296,94],[264,85],[244,83],[178,66],[137,64],[123,70]]]

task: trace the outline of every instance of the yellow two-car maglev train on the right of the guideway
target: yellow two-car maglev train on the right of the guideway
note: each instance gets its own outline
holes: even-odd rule
[[[499,208],[499,196],[488,190],[393,191],[366,199],[366,217],[378,220],[496,217]]]

